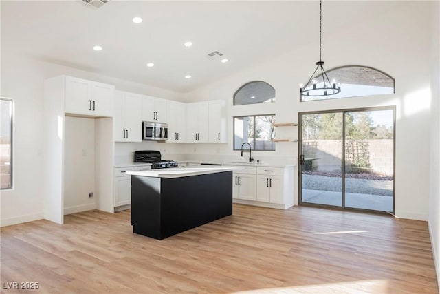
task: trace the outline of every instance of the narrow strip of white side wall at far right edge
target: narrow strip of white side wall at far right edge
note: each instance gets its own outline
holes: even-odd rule
[[[440,2],[432,9],[432,99],[429,229],[440,292]]]

